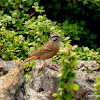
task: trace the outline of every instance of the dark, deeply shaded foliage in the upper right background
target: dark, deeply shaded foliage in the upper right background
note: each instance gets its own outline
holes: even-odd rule
[[[63,23],[61,30],[71,36],[73,44],[93,49],[100,46],[100,0],[40,0],[40,4],[47,18]]]

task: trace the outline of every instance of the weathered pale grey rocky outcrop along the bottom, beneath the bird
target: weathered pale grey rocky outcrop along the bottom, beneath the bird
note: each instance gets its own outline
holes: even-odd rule
[[[51,95],[57,92],[60,66],[49,60],[46,62],[48,67],[37,60],[28,85],[20,63],[0,60],[0,100],[54,100]],[[74,93],[76,100],[95,100],[88,95],[94,92],[95,78],[100,76],[99,70],[93,70],[96,66],[95,61],[78,61],[75,83],[80,90]]]

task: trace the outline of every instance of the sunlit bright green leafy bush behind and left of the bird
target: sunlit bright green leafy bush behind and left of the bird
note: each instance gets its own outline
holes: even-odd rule
[[[33,0],[0,1],[0,57],[5,60],[25,59],[38,49],[53,32],[60,32],[57,22],[46,15],[43,6]],[[34,16],[34,17],[33,17]]]

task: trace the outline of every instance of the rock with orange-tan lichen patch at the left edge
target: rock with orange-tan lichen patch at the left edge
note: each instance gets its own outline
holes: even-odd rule
[[[16,93],[25,82],[19,64],[15,61],[0,60],[0,73],[0,100],[15,100]]]

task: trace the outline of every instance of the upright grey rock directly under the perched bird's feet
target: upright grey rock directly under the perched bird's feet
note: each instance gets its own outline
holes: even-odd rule
[[[51,94],[57,92],[59,85],[57,70],[59,70],[60,66],[49,60],[46,60],[46,63],[50,65],[49,68],[45,67],[41,60],[37,60],[35,66],[33,67],[30,87],[39,93],[46,94],[49,97],[49,100],[53,100],[54,98]]]

